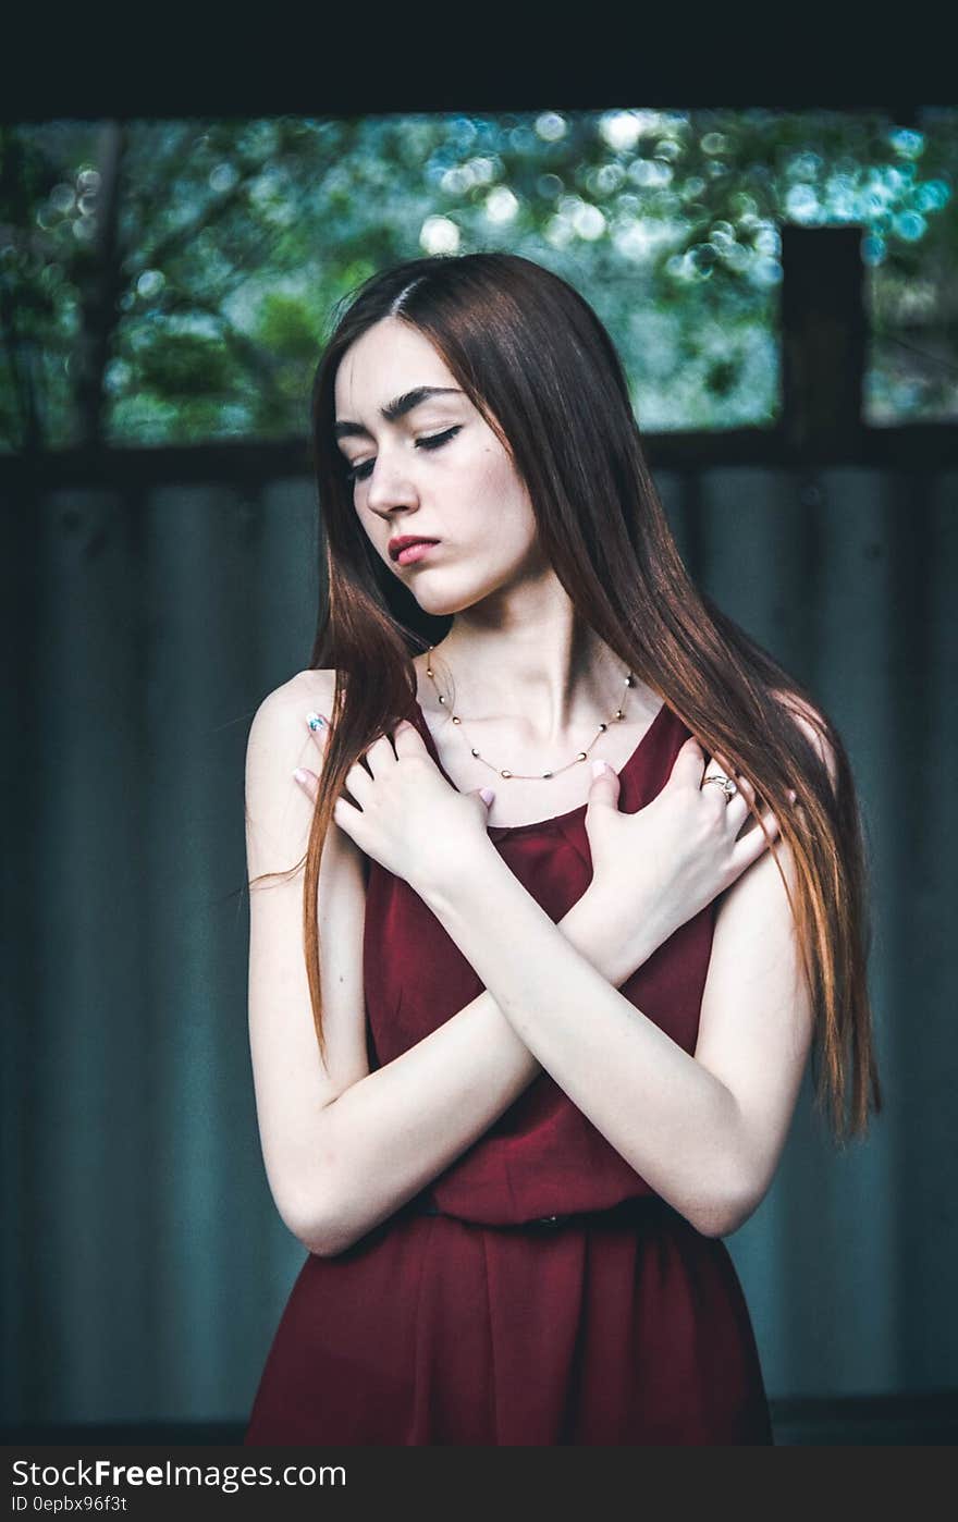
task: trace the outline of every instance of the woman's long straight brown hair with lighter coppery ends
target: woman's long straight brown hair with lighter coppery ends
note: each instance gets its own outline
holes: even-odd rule
[[[385,317],[430,339],[512,454],[545,556],[579,618],[707,753],[745,773],[778,817],[797,872],[789,896],[815,1009],[816,1102],[829,1103],[839,1145],[864,1134],[870,1103],[877,1113],[882,1096],[867,989],[862,826],[845,749],[794,677],[691,581],[643,455],[618,355],[592,309],[557,275],[513,254],[434,256],[373,275],[341,315],[315,376],[327,597],[311,668],[334,668],[337,679],[305,858],[303,935],[323,1058],[317,886],[332,808],[350,766],[413,715],[413,654],[451,627],[451,618],[423,613],[372,548],[335,444],[338,364]]]

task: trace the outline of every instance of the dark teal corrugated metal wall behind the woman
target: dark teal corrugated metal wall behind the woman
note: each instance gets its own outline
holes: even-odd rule
[[[806,1082],[728,1239],[768,1390],[946,1390],[958,472],[656,479],[705,589],[839,724],[874,860],[886,1110],[841,1155]],[[308,661],[312,502],[286,479],[5,508],[9,1422],[242,1422],[303,1259],[256,1134],[242,775]]]

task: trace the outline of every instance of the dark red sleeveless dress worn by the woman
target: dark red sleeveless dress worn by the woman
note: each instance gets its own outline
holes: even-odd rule
[[[442,770],[420,709],[414,721]],[[663,708],[620,773],[623,811],[661,790],[687,737]],[[585,805],[489,836],[553,921],[588,887]],[[713,921],[710,906],[621,988],[688,1053]],[[481,992],[431,910],[375,861],[364,948],[372,1067]],[[725,1243],[541,1073],[431,1189],[337,1257],[306,1259],[245,1443],[768,1444],[772,1431]]]

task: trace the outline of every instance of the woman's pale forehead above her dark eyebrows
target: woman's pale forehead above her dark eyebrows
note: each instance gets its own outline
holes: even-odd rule
[[[337,419],[364,420],[419,385],[457,387],[428,338],[385,317],[350,344],[337,370]]]

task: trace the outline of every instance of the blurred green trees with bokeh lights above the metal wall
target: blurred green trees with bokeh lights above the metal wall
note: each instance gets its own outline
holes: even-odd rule
[[[6,449],[302,435],[337,301],[507,248],[596,306],[646,429],[768,426],[780,225],[862,227],[868,420],[958,414],[958,111],[0,128]]]

